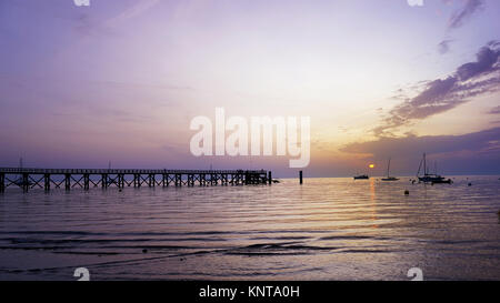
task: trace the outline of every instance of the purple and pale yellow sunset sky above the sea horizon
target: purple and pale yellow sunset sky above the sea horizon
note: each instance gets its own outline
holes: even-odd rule
[[[306,175],[500,174],[500,1],[2,0],[0,166],[268,169],[190,121],[310,117]],[[368,164],[376,168],[368,171]]]

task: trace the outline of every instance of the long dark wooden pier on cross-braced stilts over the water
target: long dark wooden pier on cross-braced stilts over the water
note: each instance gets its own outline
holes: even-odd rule
[[[269,173],[269,174],[268,174]],[[123,189],[154,186],[212,186],[271,184],[271,172],[260,170],[89,170],[0,168],[0,193],[8,188],[31,189],[90,188]]]

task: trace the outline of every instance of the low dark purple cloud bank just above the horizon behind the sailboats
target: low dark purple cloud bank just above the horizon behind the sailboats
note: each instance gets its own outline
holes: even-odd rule
[[[394,173],[414,173],[423,152],[429,160],[439,160],[442,173],[498,173],[500,171],[500,128],[462,134],[408,134],[403,138],[380,138],[376,141],[351,143],[342,152],[371,154],[383,162],[392,156]],[[392,165],[391,165],[392,168]]]

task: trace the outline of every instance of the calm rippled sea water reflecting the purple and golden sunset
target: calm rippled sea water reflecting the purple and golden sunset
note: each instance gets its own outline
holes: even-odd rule
[[[0,280],[500,280],[500,181],[454,181],[12,190]]]

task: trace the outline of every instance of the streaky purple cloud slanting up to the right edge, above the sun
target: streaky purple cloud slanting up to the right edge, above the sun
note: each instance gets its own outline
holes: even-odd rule
[[[373,129],[373,133],[378,137],[388,135],[390,130],[449,111],[472,97],[498,90],[499,57],[500,43],[488,43],[479,50],[474,62],[462,64],[444,79],[423,83],[416,97],[403,98],[404,101],[389,112],[382,123]]]

